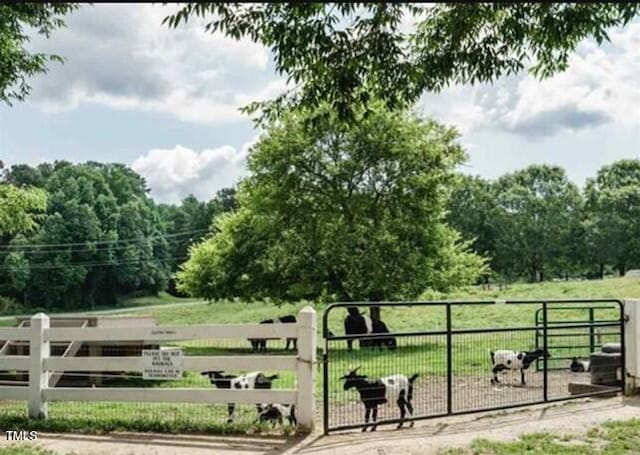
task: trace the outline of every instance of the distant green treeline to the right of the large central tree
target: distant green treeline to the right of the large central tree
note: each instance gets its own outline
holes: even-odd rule
[[[624,275],[640,267],[640,160],[602,167],[583,190],[557,166],[461,175],[447,220],[490,258],[494,279]]]

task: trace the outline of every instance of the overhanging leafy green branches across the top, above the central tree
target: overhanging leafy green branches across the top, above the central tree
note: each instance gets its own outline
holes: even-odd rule
[[[188,3],[164,22],[207,18],[208,32],[268,47],[276,71],[297,88],[247,106],[262,108],[262,120],[287,105],[327,102],[353,119],[370,99],[395,109],[425,91],[492,82],[528,64],[551,76],[581,40],[602,43],[639,11],[637,3]]]

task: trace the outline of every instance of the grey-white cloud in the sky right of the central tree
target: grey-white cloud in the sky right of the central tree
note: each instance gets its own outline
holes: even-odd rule
[[[640,126],[640,20],[610,32],[610,43],[585,41],[569,68],[542,81],[522,73],[494,85],[456,86],[427,94],[420,109],[469,133],[500,129],[529,138],[612,122]]]

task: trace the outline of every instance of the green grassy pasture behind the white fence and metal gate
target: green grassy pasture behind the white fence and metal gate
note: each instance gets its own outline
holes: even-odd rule
[[[425,298],[450,300],[495,300],[495,299],[567,299],[567,298],[630,298],[640,296],[640,280],[607,279],[602,281],[551,282],[541,284],[519,284],[508,288],[483,290],[470,287],[448,295],[429,295]],[[128,314],[148,314],[154,316],[160,325],[189,325],[206,323],[255,323],[264,319],[296,314],[306,305],[318,311],[319,327],[325,305],[310,302],[297,302],[275,306],[264,302],[215,302],[201,305],[166,305],[180,302],[193,303],[194,300],[175,299],[163,295],[159,298],[138,298],[123,302],[131,306]],[[136,310],[141,305],[166,305]],[[530,327],[535,322],[535,311],[539,303],[528,305],[481,305],[455,306],[452,310],[453,327],[457,329],[473,327]],[[584,311],[560,311],[550,313],[553,320],[584,320]],[[336,334],[343,333],[343,308],[329,313],[329,327]],[[385,308],[383,320],[394,332],[424,332],[442,330],[446,325],[443,306],[413,306],[404,308]],[[598,318],[614,319],[615,309],[598,310]],[[581,329],[582,330],[582,329]],[[585,329],[586,330],[586,329]],[[586,331],[584,332],[586,334]],[[613,335],[603,336],[602,341],[614,341]],[[582,337],[582,341],[584,338]],[[578,343],[576,339],[576,343]],[[453,338],[453,367],[456,375],[487,375],[488,351],[490,349],[517,348],[529,349],[535,344],[535,331],[504,332],[477,335],[455,335]],[[243,340],[197,340],[174,343],[181,346],[186,355],[248,355],[250,345]],[[446,339],[442,335],[398,338],[398,349],[388,351],[354,349],[346,350],[345,342],[336,340],[330,345],[331,374],[330,388],[332,403],[353,400],[352,393],[341,390],[339,377],[354,366],[371,376],[389,374],[390,368],[406,374],[419,373],[421,378],[437,377],[445,374]],[[282,354],[284,342],[270,341],[269,354]],[[318,334],[319,349],[323,347],[321,333]],[[588,351],[587,351],[588,352]],[[320,356],[319,352],[319,356]],[[397,372],[394,371],[394,372]],[[321,370],[319,368],[319,378]],[[275,388],[295,386],[295,376],[291,372],[278,373],[280,378],[274,382]],[[488,378],[488,377],[487,377]],[[105,384],[106,385],[106,384]],[[142,387],[210,387],[206,377],[197,372],[187,372],[180,381],[142,381],[129,378],[109,384],[110,386]],[[322,381],[317,381],[316,395],[321,397]],[[247,432],[254,431],[251,426],[255,418],[255,408],[245,406],[238,409],[238,424],[226,425],[226,406],[172,405],[172,404],[127,404],[127,403],[52,403],[51,419],[41,425],[52,429],[73,428],[78,431],[104,432],[114,429],[147,430],[161,432]],[[0,424],[24,422],[24,409],[5,413],[5,421]],[[10,419],[7,421],[6,419]],[[12,419],[12,420],[11,420]],[[2,425],[0,425],[2,426]],[[44,429],[44,428],[43,428]]]

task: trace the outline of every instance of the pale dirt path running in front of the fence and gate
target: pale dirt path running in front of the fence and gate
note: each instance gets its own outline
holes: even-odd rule
[[[640,418],[640,398],[591,398],[509,411],[446,417],[416,423],[412,429],[379,427],[375,433],[345,432],[306,437],[227,437],[162,434],[106,436],[40,434],[38,444],[77,455],[400,455],[435,454],[476,438],[515,439],[537,431],[583,432],[608,420]],[[0,440],[0,446],[6,444]],[[27,443],[25,443],[27,444]]]

